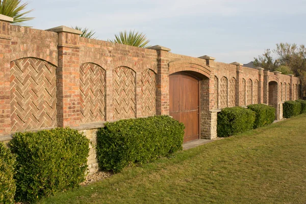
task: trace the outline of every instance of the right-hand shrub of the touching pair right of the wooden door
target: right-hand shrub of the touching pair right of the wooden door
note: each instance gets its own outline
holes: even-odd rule
[[[248,108],[256,113],[254,129],[271,124],[275,120],[275,108],[265,104],[249,105]]]

